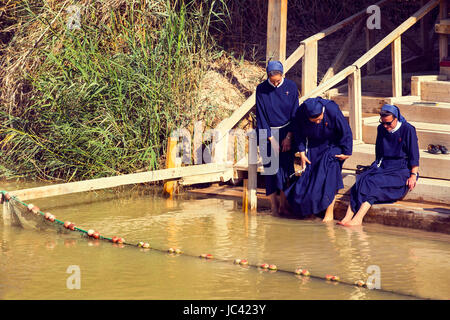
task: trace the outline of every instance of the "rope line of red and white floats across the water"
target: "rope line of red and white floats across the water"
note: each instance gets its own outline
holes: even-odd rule
[[[39,209],[39,207],[37,207],[36,205],[31,204],[31,203],[27,204],[25,202],[22,202],[17,197],[11,196],[7,191],[0,191],[0,204],[3,204],[4,202],[9,202],[11,199],[20,203],[21,205],[25,206],[29,212],[31,212],[35,215],[42,216],[42,218],[44,220],[59,224],[67,230],[80,232],[85,237],[88,237],[88,238],[92,238],[95,240],[106,240],[106,241],[112,242],[113,244],[119,244],[122,246],[131,246],[131,247],[137,247],[137,248],[142,248],[142,249],[152,249],[152,250],[156,250],[156,251],[160,251],[160,252],[169,253],[171,255],[183,254],[186,256],[199,257],[201,259],[206,259],[206,260],[215,260],[218,262],[227,262],[227,263],[230,262],[230,260],[216,259],[216,258],[214,258],[214,256],[212,254],[209,254],[209,253],[202,253],[198,256],[195,256],[195,255],[185,254],[178,248],[169,248],[167,250],[164,250],[164,249],[151,247],[149,242],[139,241],[137,244],[134,244],[134,243],[126,242],[124,238],[118,237],[118,236],[113,236],[112,238],[109,238],[109,237],[106,237],[106,236],[100,234],[100,232],[97,230],[94,230],[94,229],[84,230],[84,229],[81,229],[80,227],[77,227],[75,225],[75,223],[73,223],[71,221],[58,220],[58,219],[56,219],[55,215],[51,214],[50,212],[42,212]],[[252,265],[249,263],[249,261],[247,259],[234,259],[232,261],[232,263],[243,266],[243,267],[253,267],[253,268],[256,268],[259,270],[263,270],[263,271],[271,271],[272,273],[274,273],[274,272],[290,273],[290,274],[294,274],[296,277],[315,278],[318,280],[325,280],[327,282],[340,283],[342,285],[348,285],[348,286],[353,286],[353,287],[356,286],[356,287],[360,287],[360,288],[367,288],[368,290],[370,290],[367,283],[363,280],[356,280],[353,283],[345,282],[345,281],[341,281],[339,276],[337,276],[337,275],[327,274],[324,277],[321,277],[321,276],[317,276],[317,275],[312,275],[309,272],[309,270],[303,269],[300,267],[295,269],[294,271],[282,270],[282,269],[278,269],[275,264],[263,263],[263,264],[259,264],[259,265]],[[407,293],[390,291],[390,290],[386,290],[386,289],[376,289],[376,290],[380,291],[380,292],[393,293],[393,294],[403,295],[403,296],[412,297],[412,298],[428,299],[428,298],[418,297],[418,296],[407,294]]]

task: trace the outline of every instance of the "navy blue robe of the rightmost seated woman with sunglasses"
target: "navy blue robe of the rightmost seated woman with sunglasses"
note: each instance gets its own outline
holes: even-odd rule
[[[406,181],[411,168],[419,166],[416,128],[405,120],[397,131],[389,133],[380,124],[375,158],[372,165],[357,176],[350,189],[350,205],[355,213],[366,201],[371,205],[393,203],[407,193]]]

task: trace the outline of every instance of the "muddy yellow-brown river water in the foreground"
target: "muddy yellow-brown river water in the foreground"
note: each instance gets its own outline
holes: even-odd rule
[[[7,191],[29,186],[0,183]],[[84,230],[127,243],[146,241],[160,250],[0,223],[0,299],[450,298],[445,234],[245,215],[233,200],[168,200],[143,188],[27,202]],[[183,254],[169,254],[168,248]],[[199,258],[202,253],[214,259]],[[250,266],[234,264],[237,258]],[[278,271],[254,267],[262,263]],[[298,267],[312,277],[296,276]],[[327,274],[338,275],[341,283],[324,280]],[[352,285],[369,277],[381,290]]]

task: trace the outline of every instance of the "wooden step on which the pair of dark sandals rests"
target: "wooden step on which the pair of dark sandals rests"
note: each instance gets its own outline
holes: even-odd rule
[[[344,169],[355,170],[358,164],[370,165],[374,160],[374,144],[355,144],[353,155],[344,162]],[[450,180],[450,154],[431,154],[420,150],[419,171],[424,178]]]

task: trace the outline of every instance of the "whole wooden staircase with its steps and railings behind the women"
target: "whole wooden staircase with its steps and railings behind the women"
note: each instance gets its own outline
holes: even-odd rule
[[[381,3],[379,2],[379,4]],[[427,206],[435,206],[435,208],[441,208],[447,213],[450,212],[450,155],[430,154],[426,151],[428,144],[442,144],[450,148],[450,82],[445,74],[438,75],[436,71],[402,73],[401,59],[401,40],[411,40],[406,36],[403,37],[403,33],[436,7],[439,8],[438,21],[439,19],[442,21],[448,15],[447,4],[447,0],[427,2],[400,26],[391,28],[392,32],[379,43],[368,45],[368,51],[352,65],[337,72],[348,51],[344,43],[344,47],[326,73],[326,77],[319,84],[317,83],[317,42],[342,28],[344,23],[350,23],[349,21],[355,22],[352,31],[352,34],[354,34],[356,29],[361,27],[361,23],[358,22],[361,13],[359,16],[356,14],[302,41],[299,48],[286,59],[285,69],[287,70],[296,61],[302,60],[302,96],[300,97],[300,103],[310,97],[324,96],[337,102],[344,115],[349,119],[354,133],[354,152],[352,157],[344,164],[345,188],[340,192],[344,198],[345,193],[355,182],[356,166],[358,164],[368,165],[374,161],[376,127],[379,124],[378,112],[383,104],[390,103],[397,105],[405,118],[416,127],[421,156],[419,183],[403,199],[408,205],[403,208],[404,202],[399,201],[395,207],[399,212],[402,212],[403,209],[403,212],[411,212],[408,208],[411,207],[411,203],[413,203],[413,206],[416,203],[417,210],[423,209],[421,212],[425,214],[430,211],[430,208],[426,210],[424,208],[425,204],[429,203]],[[425,33],[427,32],[422,30],[422,35]],[[425,42],[423,41],[423,43]],[[444,45],[441,35],[439,36],[439,43],[440,46]],[[351,45],[351,43],[348,44]],[[373,72],[373,58],[389,45],[392,55],[391,74],[384,74],[383,72],[362,77],[361,68],[367,66],[367,70]],[[427,57],[425,53],[428,53],[425,47],[423,53],[423,59],[425,59]],[[440,49],[440,59],[443,58],[444,54],[445,50]],[[342,85],[342,81],[346,78],[347,84]],[[233,114],[232,119],[228,120],[223,128],[232,128],[253,105],[254,95]],[[247,162],[248,158],[244,158],[235,164],[235,178],[250,178],[251,174],[247,174],[249,167]],[[262,170],[263,168],[259,164],[257,170],[254,170],[254,174],[256,175],[256,172],[262,172]],[[258,193],[258,198],[260,197],[263,198]],[[392,208],[392,205],[376,205],[372,211],[376,214],[376,212],[391,210]],[[448,215],[440,216],[440,218],[445,220],[447,224],[450,222]],[[448,231],[450,232],[450,229]]]

